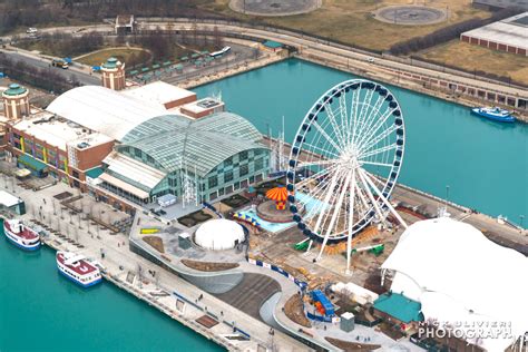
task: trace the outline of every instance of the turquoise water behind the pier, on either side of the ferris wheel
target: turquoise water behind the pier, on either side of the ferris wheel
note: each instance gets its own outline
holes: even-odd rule
[[[231,111],[276,136],[285,120],[292,141],[306,110],[324,91],[352,75],[302,60],[287,60],[198,87],[222,92]],[[470,109],[388,86],[405,118],[407,144],[400,183],[458,204],[519,222],[528,217],[528,125],[500,125]],[[525,221],[526,227],[527,221]]]

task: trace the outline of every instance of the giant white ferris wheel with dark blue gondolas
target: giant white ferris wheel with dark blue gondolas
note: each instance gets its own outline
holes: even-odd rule
[[[385,87],[352,79],[329,89],[304,117],[286,173],[290,211],[312,243],[348,241],[373,221],[385,223],[389,197],[403,160],[405,128],[400,105]]]

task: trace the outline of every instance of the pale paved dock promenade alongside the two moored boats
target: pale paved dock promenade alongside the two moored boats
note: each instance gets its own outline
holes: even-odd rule
[[[9,188],[10,192],[14,189],[17,196],[26,202],[28,213],[21,218],[30,226],[42,229],[43,244],[56,251],[82,254],[100,265],[102,277],[108,283],[226,350],[265,351],[272,344],[280,345],[280,351],[310,350],[280,331],[271,335],[270,326],[262,321],[130,252],[128,234],[115,234],[87,217],[68,216],[65,206],[61,214],[56,206],[50,205],[57,203],[53,195],[75,192],[67,185],[59,183],[37,192],[11,182],[0,182],[0,187]],[[53,208],[57,208],[56,214]],[[114,209],[108,206],[107,213],[110,212]]]

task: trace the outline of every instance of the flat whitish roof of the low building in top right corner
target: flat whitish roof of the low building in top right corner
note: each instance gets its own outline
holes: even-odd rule
[[[528,49],[528,12],[524,12],[501,21],[490,23],[467,32],[462,36],[479,38],[511,47]]]

